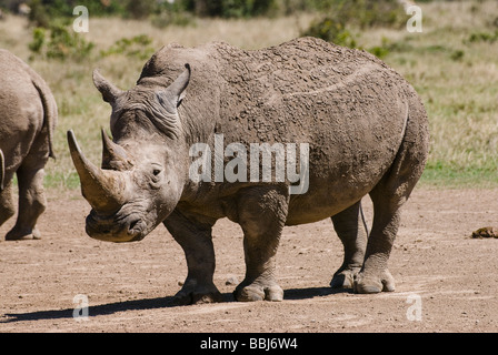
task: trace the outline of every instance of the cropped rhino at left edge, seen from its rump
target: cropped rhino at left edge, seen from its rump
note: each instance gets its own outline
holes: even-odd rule
[[[46,210],[43,169],[54,158],[52,133],[57,104],[39,74],[0,49],[0,225],[16,213],[12,178],[19,183],[19,209],[6,240],[40,239],[37,220]]]

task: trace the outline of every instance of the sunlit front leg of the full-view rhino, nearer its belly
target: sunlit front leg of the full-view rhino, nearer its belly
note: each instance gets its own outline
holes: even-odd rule
[[[275,277],[276,254],[287,219],[287,187],[252,187],[238,200],[243,231],[246,277],[237,286],[237,301],[282,301]]]

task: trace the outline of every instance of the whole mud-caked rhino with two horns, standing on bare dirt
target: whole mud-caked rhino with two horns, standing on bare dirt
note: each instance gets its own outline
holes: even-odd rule
[[[426,163],[428,121],[415,90],[380,60],[312,38],[256,51],[171,44],[147,62],[129,91],[98,71],[93,81],[112,106],[113,140],[102,134],[101,168],[68,132],[92,206],[87,233],[130,242],[163,223],[187,257],[178,303],[220,300],[211,229],[222,217],[243,231],[238,301],[282,300],[276,253],[283,226],[328,217],[345,248],[331,286],[395,290],[388,258],[400,207]],[[201,142],[215,151],[215,134],[223,134],[225,146],[309,143],[309,190],[289,194],[288,181],[195,182],[189,166],[197,158],[189,149]],[[375,210],[368,241],[360,219],[367,194]]]

